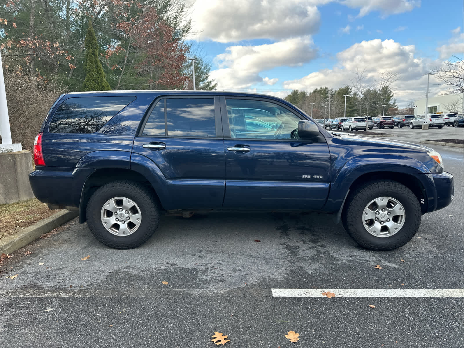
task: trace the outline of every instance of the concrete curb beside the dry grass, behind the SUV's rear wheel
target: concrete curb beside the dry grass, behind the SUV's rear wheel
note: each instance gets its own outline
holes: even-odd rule
[[[64,210],[43,219],[34,225],[26,227],[19,232],[7,236],[0,240],[0,255],[2,253],[9,254],[11,252],[21,249],[23,246],[32,243],[34,240],[40,238],[44,233],[48,233],[58,226],[63,225],[78,215],[77,212],[70,212]]]

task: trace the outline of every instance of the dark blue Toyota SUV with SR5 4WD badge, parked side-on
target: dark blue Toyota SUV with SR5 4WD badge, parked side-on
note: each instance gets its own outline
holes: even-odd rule
[[[68,93],[34,144],[30,182],[78,209],[102,243],[134,248],[160,214],[318,211],[365,248],[390,250],[451,203],[431,148],[330,133],[271,96],[219,91]]]

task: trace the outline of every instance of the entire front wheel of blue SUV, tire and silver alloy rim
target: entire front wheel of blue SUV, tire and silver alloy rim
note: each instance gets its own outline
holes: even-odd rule
[[[421,217],[419,200],[409,188],[393,180],[378,180],[350,194],[343,225],[362,247],[392,250],[414,237]]]

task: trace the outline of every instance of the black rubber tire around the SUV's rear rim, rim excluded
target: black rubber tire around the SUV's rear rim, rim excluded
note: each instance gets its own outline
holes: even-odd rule
[[[103,226],[103,205],[116,197],[132,200],[140,209],[140,225],[127,236],[112,234]],[[145,243],[155,233],[160,212],[154,193],[148,187],[134,181],[117,180],[99,187],[92,194],[87,203],[86,216],[90,232],[104,245],[115,249],[132,249]]]

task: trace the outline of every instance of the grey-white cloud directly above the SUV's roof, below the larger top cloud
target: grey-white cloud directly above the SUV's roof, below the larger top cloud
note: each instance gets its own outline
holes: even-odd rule
[[[219,90],[248,88],[256,83],[271,84],[275,79],[261,77],[260,71],[279,66],[301,66],[316,58],[317,50],[313,45],[313,40],[306,36],[269,45],[230,46],[226,53],[214,58],[219,69],[211,71],[210,77],[216,80]]]

